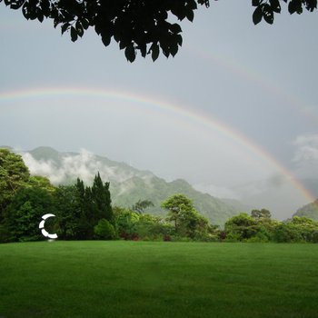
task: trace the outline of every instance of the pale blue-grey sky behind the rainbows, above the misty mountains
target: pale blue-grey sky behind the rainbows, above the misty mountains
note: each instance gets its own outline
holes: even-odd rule
[[[181,22],[174,58],[137,57],[88,30],[72,43],[51,21],[0,4],[0,144],[89,151],[167,181],[285,218],[316,194],[317,13],[253,25],[235,0]]]

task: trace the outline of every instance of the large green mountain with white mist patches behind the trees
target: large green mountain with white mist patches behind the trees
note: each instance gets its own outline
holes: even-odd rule
[[[204,214],[212,224],[223,225],[235,214],[244,211],[235,200],[222,200],[194,190],[182,179],[166,182],[149,171],[112,161],[87,151],[81,153],[60,153],[51,147],[38,147],[23,154],[31,174],[47,176],[53,184],[73,184],[77,177],[91,184],[94,174],[99,172],[110,182],[113,205],[130,207],[138,200],[151,200],[154,207],[151,214],[165,214],[160,204],[170,195],[183,193],[191,198],[195,208]],[[246,211],[246,210],[245,210]],[[248,211],[247,211],[248,212]]]

